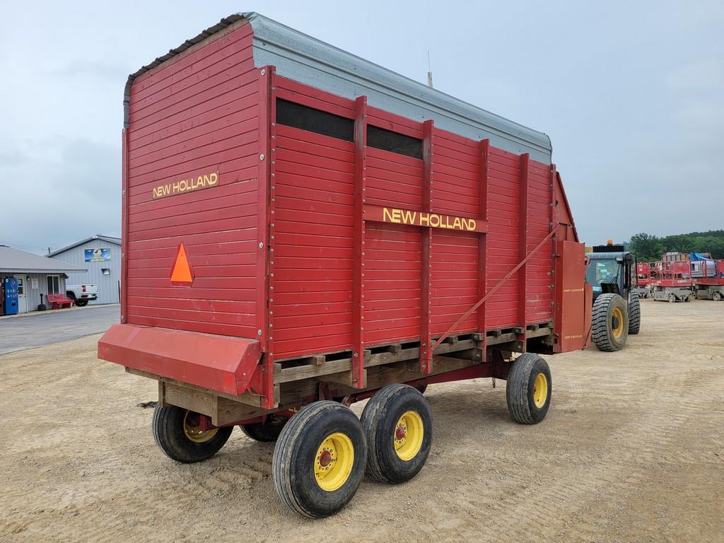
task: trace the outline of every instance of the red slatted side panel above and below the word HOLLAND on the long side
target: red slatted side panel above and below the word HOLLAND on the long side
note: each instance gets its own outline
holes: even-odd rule
[[[479,144],[459,135],[434,132],[432,209],[479,216]],[[432,245],[432,334],[447,330],[478,300],[478,234],[437,230]],[[477,329],[473,313],[456,333]]]

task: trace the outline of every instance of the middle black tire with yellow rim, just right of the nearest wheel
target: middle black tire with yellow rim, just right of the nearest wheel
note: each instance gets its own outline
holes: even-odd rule
[[[361,419],[370,479],[404,483],[420,472],[432,447],[432,410],[419,390],[390,384],[371,397]]]

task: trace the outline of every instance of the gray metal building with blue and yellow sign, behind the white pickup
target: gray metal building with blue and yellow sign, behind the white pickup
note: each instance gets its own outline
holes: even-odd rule
[[[88,270],[85,274],[73,275],[68,284],[98,285],[98,300],[90,303],[119,302],[121,238],[98,234],[53,251],[48,256]]]

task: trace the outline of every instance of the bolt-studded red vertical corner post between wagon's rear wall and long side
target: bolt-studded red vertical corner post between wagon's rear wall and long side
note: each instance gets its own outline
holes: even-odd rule
[[[256,335],[262,353],[261,407],[274,408],[274,212],[276,68],[259,70],[259,174],[257,222]]]

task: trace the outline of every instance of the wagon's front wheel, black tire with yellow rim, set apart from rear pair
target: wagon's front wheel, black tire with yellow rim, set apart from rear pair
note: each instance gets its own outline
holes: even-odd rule
[[[543,358],[535,353],[515,358],[505,387],[508,413],[515,422],[538,424],[542,421],[548,413],[552,392],[550,368]]]

